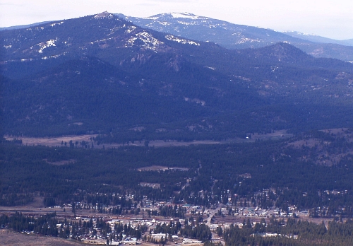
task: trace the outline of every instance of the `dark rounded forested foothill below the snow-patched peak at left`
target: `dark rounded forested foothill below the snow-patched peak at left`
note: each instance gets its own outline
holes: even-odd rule
[[[153,83],[95,58],[68,61],[24,81],[6,81],[4,87],[5,122],[11,122],[6,128],[32,134],[107,132],[203,112],[182,98],[158,95]]]

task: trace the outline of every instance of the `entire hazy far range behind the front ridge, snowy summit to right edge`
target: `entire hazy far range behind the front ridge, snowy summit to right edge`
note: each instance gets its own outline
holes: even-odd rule
[[[353,47],[347,40],[340,45],[319,40],[308,39],[304,35],[287,35],[270,29],[256,28],[248,25],[237,25],[192,13],[162,13],[148,18],[136,18],[116,14],[128,21],[145,28],[164,33],[187,37],[193,40],[215,42],[227,49],[244,49],[264,47],[277,42],[290,44],[313,55],[313,57],[336,58],[343,61],[353,61]],[[325,40],[327,41],[327,40]]]

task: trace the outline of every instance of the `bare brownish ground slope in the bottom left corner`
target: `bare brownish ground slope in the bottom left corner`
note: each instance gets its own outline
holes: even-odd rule
[[[66,246],[83,245],[80,242],[65,240],[62,238],[44,237],[41,235],[27,235],[27,233],[15,233],[11,230],[0,230],[0,244],[12,246]]]

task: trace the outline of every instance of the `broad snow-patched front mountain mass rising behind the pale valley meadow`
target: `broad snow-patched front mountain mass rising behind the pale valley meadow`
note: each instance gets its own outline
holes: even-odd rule
[[[107,12],[0,36],[6,134],[124,142],[352,125],[353,64],[285,42],[225,49]]]

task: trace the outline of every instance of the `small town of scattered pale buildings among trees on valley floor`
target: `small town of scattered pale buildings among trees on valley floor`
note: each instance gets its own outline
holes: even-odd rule
[[[126,199],[133,199],[133,195],[126,195]],[[180,216],[160,216],[162,209],[174,209],[183,211]],[[297,211],[295,206],[290,206],[287,212],[280,209],[260,209],[256,207],[237,207],[232,204],[216,204],[209,209],[204,206],[192,206],[191,204],[172,204],[171,202],[150,201],[146,197],[136,206],[138,214],[126,214],[116,216],[112,213],[113,206],[100,206],[100,204],[63,204],[62,206],[42,207],[33,211],[20,211],[21,216],[33,216],[40,218],[52,216],[61,223],[56,224],[57,233],[62,238],[74,239],[92,245],[148,245],[149,243],[166,245],[203,245],[210,241],[224,245],[222,231],[231,226],[242,228],[251,221],[251,226],[256,223],[269,221],[270,218],[309,218],[308,211]],[[0,213],[11,215],[10,211]],[[19,211],[16,211],[18,214]],[[182,217],[182,218],[181,218]],[[245,221],[248,222],[245,222]],[[34,222],[30,222],[34,224]],[[49,235],[50,225],[47,226]],[[42,225],[42,227],[44,227]],[[183,234],[183,229],[191,226],[191,230],[201,225],[210,230],[207,238],[200,238],[190,234]],[[163,228],[176,228],[174,233],[167,233]],[[205,230],[203,228],[203,230]],[[1,225],[1,229],[5,229]],[[35,230],[22,230],[20,233],[38,235]],[[258,233],[263,237],[278,236],[277,233]],[[292,235],[297,238],[297,235]],[[196,239],[198,238],[198,239]]]

